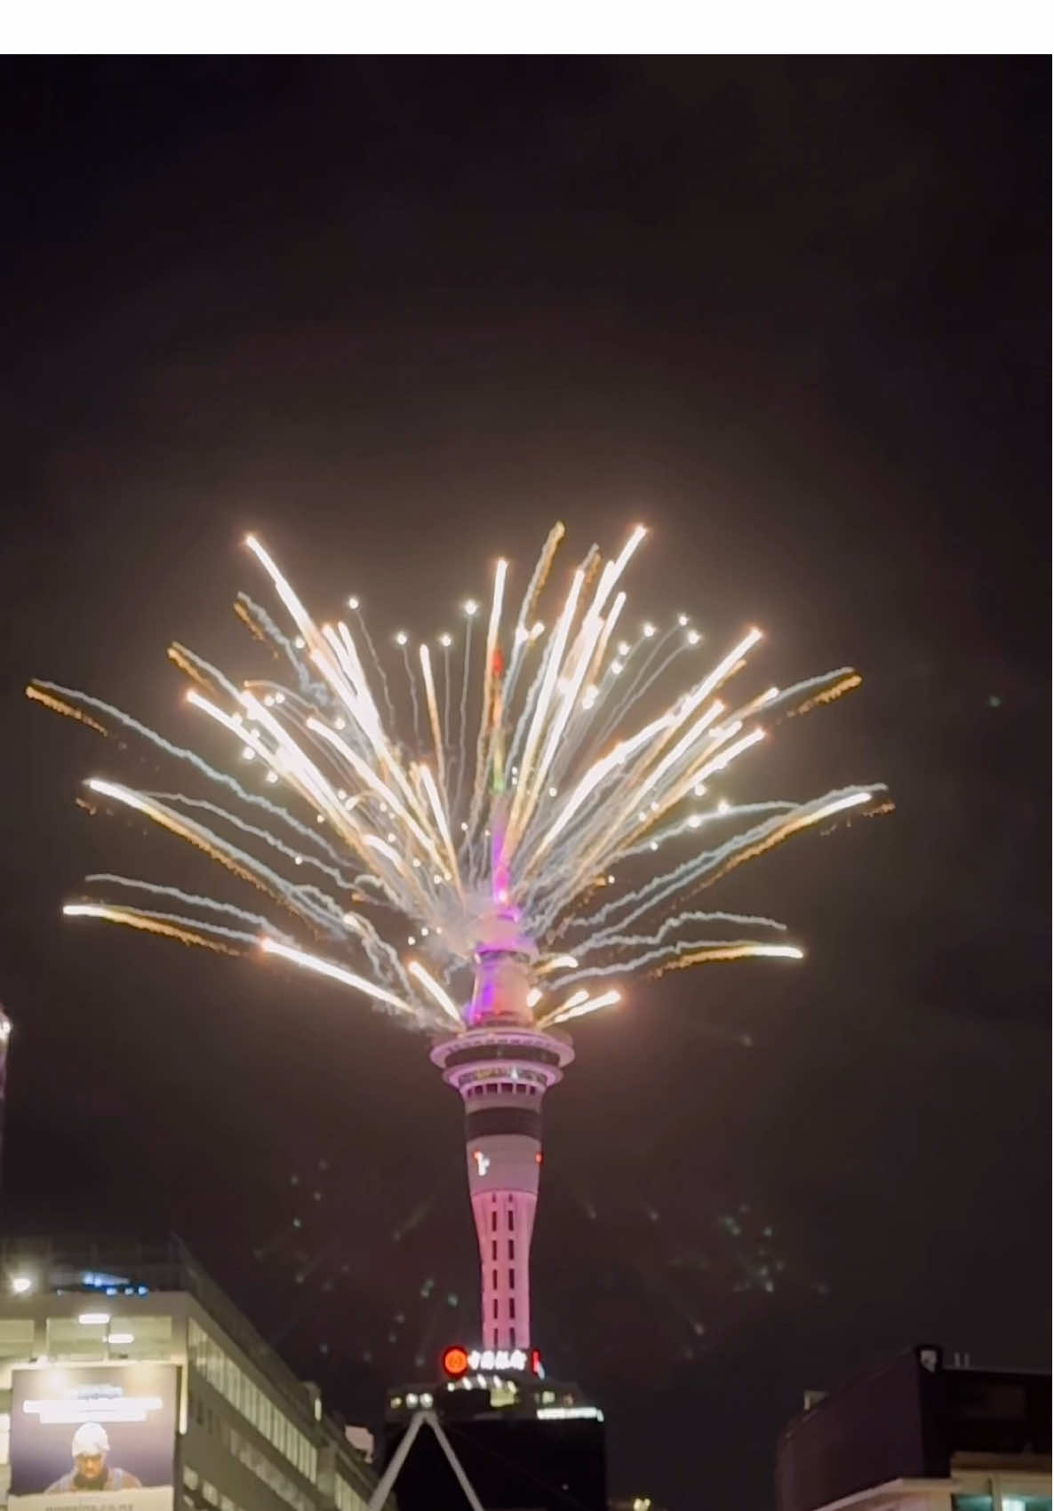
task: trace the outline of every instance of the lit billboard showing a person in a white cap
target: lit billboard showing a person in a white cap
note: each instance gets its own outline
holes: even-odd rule
[[[172,1511],[175,1364],[12,1370],[12,1511]]]

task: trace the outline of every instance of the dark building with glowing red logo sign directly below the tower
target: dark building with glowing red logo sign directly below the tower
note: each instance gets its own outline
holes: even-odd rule
[[[546,1380],[522,1351],[448,1348],[442,1378],[389,1392],[392,1464],[417,1413],[440,1423],[487,1511],[608,1511],[603,1413],[578,1386]],[[443,1441],[417,1432],[393,1485],[399,1511],[463,1511]]]

